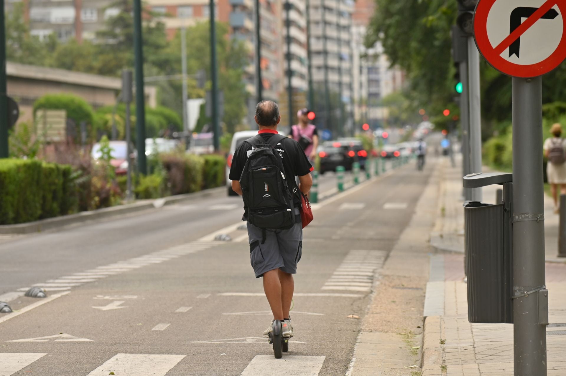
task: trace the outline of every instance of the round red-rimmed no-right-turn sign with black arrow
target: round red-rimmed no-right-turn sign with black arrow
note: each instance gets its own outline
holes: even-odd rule
[[[481,0],[474,38],[496,70],[514,77],[544,75],[566,58],[566,0]]]

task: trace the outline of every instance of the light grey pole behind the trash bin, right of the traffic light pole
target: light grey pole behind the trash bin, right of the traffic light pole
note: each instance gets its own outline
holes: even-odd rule
[[[482,172],[482,111],[479,93],[479,51],[473,37],[468,37],[468,94],[470,173]],[[471,188],[471,201],[482,201],[482,188]]]

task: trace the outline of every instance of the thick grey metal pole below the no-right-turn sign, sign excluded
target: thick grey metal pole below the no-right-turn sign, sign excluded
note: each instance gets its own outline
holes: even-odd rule
[[[542,78],[512,78],[515,376],[546,376]]]

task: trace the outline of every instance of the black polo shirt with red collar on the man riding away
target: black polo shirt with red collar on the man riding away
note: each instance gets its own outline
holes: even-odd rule
[[[265,142],[271,139],[273,135],[278,134],[275,129],[261,129],[258,133],[263,137]],[[240,176],[242,176],[242,171],[246,165],[248,150],[251,150],[251,145],[247,142],[242,142],[235,150],[232,157],[232,166],[230,167],[230,180],[240,180]],[[285,137],[285,139],[281,140],[281,143],[277,145],[276,151],[283,160],[285,176],[303,176],[314,170],[314,167],[308,162],[305,152],[297,141]],[[295,204],[298,204],[298,202],[295,202]],[[246,206],[244,206],[244,210],[244,217],[246,218]]]

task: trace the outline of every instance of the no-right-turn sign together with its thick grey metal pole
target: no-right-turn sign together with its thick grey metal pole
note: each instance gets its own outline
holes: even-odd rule
[[[566,58],[566,2],[520,5],[481,0],[474,38],[487,62],[513,77],[514,375],[546,376],[542,75]]]

